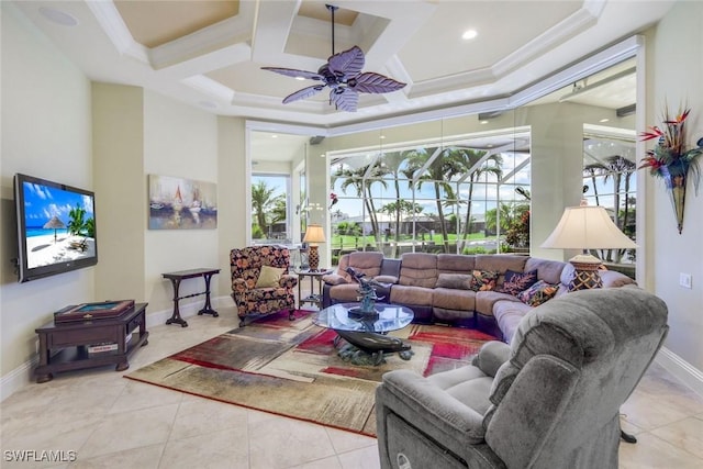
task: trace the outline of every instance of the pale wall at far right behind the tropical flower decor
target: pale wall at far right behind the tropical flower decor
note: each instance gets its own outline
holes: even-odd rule
[[[665,103],[676,113],[688,103],[689,145],[703,137],[703,2],[677,2],[647,34],[647,123],[659,125]],[[703,169],[703,157],[699,159]],[[666,347],[703,370],[703,193],[689,182],[683,233],[679,234],[669,194],[649,179],[647,191],[648,268],[654,292],[669,306],[671,327]],[[703,181],[702,181],[703,183]],[[679,286],[679,273],[693,276],[693,288]]]

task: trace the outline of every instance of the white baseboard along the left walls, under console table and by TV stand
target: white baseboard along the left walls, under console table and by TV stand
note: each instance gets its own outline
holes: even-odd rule
[[[180,306],[178,310],[181,317],[187,319],[198,314],[198,311],[202,308],[201,303],[202,302],[197,301]],[[211,299],[211,303],[214,309],[233,305],[232,299],[230,297],[213,298]],[[174,310],[170,308],[168,310],[157,312],[148,312],[147,310],[146,328],[148,330],[149,327],[166,324],[166,320],[168,320],[172,314]],[[34,368],[36,368],[36,366],[38,365],[38,355],[35,355],[30,360],[25,361],[18,368],[0,378],[0,402],[4,401],[7,398],[24,388],[25,386],[34,382]]]

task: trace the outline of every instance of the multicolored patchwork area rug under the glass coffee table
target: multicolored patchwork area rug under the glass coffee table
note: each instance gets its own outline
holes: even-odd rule
[[[315,312],[275,314],[141,368],[126,378],[308,422],[376,436],[375,390],[384,372],[428,376],[470,361],[494,337],[478,331],[412,324],[393,333],[413,356],[378,366],[337,354],[334,331]]]

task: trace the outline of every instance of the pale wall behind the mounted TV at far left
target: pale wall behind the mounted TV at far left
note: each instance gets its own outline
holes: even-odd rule
[[[36,357],[34,330],[52,312],[94,299],[94,268],[18,283],[12,180],[15,172],[94,189],[90,81],[12,5],[2,2],[0,166],[0,376]],[[99,220],[98,220],[99,222]],[[3,388],[3,393],[4,393]],[[3,395],[4,397],[4,395]]]

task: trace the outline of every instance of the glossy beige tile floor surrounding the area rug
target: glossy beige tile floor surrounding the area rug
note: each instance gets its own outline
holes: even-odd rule
[[[233,308],[220,317],[191,316],[189,327],[149,328],[131,369],[237,326]],[[125,372],[129,372],[125,371]],[[1,406],[4,468],[378,468],[376,439],[122,378],[112,366],[58,373],[32,383]],[[623,406],[621,468],[702,468],[703,398],[654,365]],[[72,462],[18,462],[8,450],[66,451]],[[424,469],[424,468],[419,468]]]

